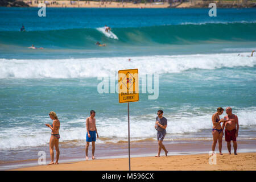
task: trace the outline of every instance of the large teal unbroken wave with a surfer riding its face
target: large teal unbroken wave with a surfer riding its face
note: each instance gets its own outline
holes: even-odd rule
[[[47,31],[0,31],[0,43],[17,46],[90,48],[97,41],[108,45],[194,44],[214,41],[255,41],[256,23],[200,23],[166,26],[113,28],[118,39],[105,36],[97,28]]]

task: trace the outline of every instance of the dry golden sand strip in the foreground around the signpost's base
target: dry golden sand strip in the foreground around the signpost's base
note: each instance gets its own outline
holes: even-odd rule
[[[203,171],[225,171],[225,170],[256,170],[256,153],[241,153],[238,155],[217,154],[216,164],[209,164],[209,154],[198,155],[172,155],[160,156],[160,158],[142,157],[131,158],[131,170],[138,171],[172,171],[172,170],[203,170]],[[14,169],[19,171],[128,171],[129,160],[122,159],[96,159],[81,162],[70,162],[53,164],[51,166],[35,166]]]

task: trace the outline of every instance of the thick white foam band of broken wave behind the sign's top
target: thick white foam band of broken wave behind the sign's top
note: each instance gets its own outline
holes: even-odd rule
[[[180,73],[188,69],[254,67],[256,56],[237,53],[178,56],[93,57],[88,59],[0,59],[0,78],[107,77],[120,69],[138,68],[139,74]],[[250,55],[250,52],[247,53]],[[131,61],[128,61],[131,59]]]

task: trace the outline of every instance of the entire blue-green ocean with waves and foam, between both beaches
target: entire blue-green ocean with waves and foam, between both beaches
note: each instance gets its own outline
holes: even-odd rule
[[[61,122],[61,147],[84,145],[92,109],[98,144],[126,141],[127,104],[119,104],[117,92],[98,92],[102,77],[118,83],[110,76],[119,69],[159,77],[156,100],[148,100],[147,88],[130,104],[132,141],[156,140],[162,109],[165,140],[210,142],[220,106],[238,115],[240,139],[256,139],[256,57],[249,57],[256,49],[256,9],[218,9],[217,17],[209,9],[47,8],[46,17],[38,10],[0,7],[1,161],[48,146],[44,124],[52,122],[52,110]],[[19,31],[22,24],[26,32]],[[116,38],[102,33],[105,24]],[[31,44],[44,49],[28,49]]]

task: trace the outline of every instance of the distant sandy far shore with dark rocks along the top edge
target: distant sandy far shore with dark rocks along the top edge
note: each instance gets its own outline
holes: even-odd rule
[[[39,3],[41,1],[38,1]],[[48,0],[47,7],[77,7],[77,8],[137,8],[137,9],[155,9],[155,8],[175,8],[175,9],[193,9],[193,8],[207,8],[209,9],[210,3],[216,3],[217,8],[255,8],[256,1],[203,1],[193,0],[188,2],[98,2],[98,1],[67,1],[67,0]],[[23,5],[21,4],[23,3]],[[20,5],[19,5],[20,4]],[[9,4],[7,7],[11,7]],[[15,7],[38,7],[37,1],[22,0]]]

